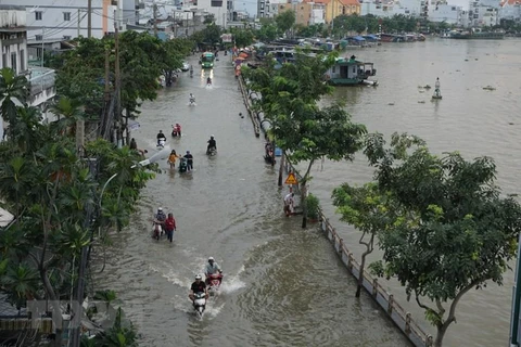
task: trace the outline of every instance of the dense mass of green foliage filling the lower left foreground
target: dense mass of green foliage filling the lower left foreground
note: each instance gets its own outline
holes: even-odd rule
[[[0,143],[0,195],[16,218],[0,233],[0,293],[23,307],[27,299],[69,297],[81,248],[98,234],[94,230],[105,233],[128,223],[139,191],[153,174],[135,166],[141,160],[137,152],[98,140],[86,145],[87,156],[98,159],[100,175],[94,178],[61,121],[43,125],[37,108],[14,110],[12,137]],[[64,119],[81,115],[65,98],[54,110]]]

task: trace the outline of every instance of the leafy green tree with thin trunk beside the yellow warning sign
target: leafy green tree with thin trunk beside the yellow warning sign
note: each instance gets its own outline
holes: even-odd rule
[[[245,69],[249,87],[260,93],[254,106],[264,112],[271,123],[270,136],[293,163],[307,163],[301,180],[302,196],[307,195],[313,164],[322,157],[332,160],[352,159],[361,147],[366,132],[363,125],[351,121],[351,116],[334,105],[320,110],[317,102],[331,87],[323,82],[323,75],[334,63],[335,55],[312,56],[297,52],[294,64],[282,64],[277,69],[272,62],[265,67]],[[306,200],[303,228],[306,227]]]

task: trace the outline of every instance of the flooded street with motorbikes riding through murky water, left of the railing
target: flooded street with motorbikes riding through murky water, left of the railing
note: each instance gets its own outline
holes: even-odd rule
[[[97,275],[99,287],[117,292],[142,346],[408,346],[368,295],[355,299],[355,282],[325,236],[283,217],[287,189],[278,190],[251,120],[239,117],[246,113],[229,62],[217,62],[211,88],[211,73],[201,73],[194,57],[190,63],[193,78],[182,73],[177,86],[144,103],[132,137],[152,155],[158,130],[169,133],[180,123],[182,138],[168,144],[190,151],[195,170],[180,175],[161,163],[164,174],[149,182]],[[211,134],[214,157],[205,155]],[[176,217],[173,244],[151,237],[160,206]],[[188,291],[208,256],[225,279],[199,321]]]

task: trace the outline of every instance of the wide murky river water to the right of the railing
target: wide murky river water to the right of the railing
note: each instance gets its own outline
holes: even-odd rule
[[[432,39],[411,44],[384,44],[355,52],[363,61],[374,63],[377,88],[339,88],[327,98],[344,100],[355,121],[369,131],[389,137],[394,131],[424,139],[432,153],[459,151],[468,159],[491,156],[497,164],[497,184],[505,194],[521,193],[521,40],[465,41]],[[443,100],[431,102],[440,77]],[[491,86],[495,90],[484,90]],[[357,258],[361,247],[359,232],[339,221],[331,205],[331,191],[341,182],[363,184],[372,178],[372,169],[363,155],[354,163],[326,162],[316,166],[312,192],[320,197],[325,213]],[[372,260],[378,259],[377,256]],[[511,264],[514,268],[514,264]],[[505,283],[488,283],[471,291],[460,301],[457,323],[450,325],[444,346],[506,346],[508,344],[513,272]],[[387,283],[416,320],[423,312],[416,303],[407,303],[404,290]],[[423,322],[425,329],[434,333]]]

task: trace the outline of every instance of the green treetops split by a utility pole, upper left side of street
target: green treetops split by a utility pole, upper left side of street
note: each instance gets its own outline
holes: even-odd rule
[[[193,43],[187,39],[166,42],[148,33],[127,30],[119,34],[119,66],[122,106],[137,113],[139,100],[154,100],[158,89],[157,78],[182,65],[183,57]],[[115,70],[115,40],[80,37],[77,48],[55,56],[58,93],[85,105],[86,117],[98,118],[104,105],[105,53],[110,70]],[[115,75],[109,76],[111,90]]]

